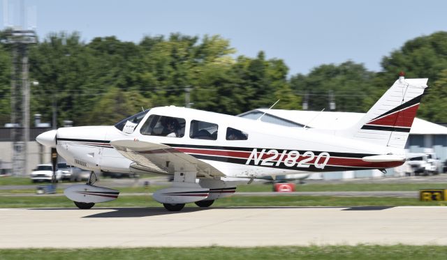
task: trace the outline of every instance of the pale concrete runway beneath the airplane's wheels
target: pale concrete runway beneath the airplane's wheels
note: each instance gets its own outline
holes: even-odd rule
[[[0,209],[0,247],[447,245],[447,207]]]

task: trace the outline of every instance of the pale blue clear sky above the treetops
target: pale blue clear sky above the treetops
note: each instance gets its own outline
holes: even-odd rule
[[[138,43],[144,36],[219,34],[236,55],[283,59],[289,75],[307,74],[328,63],[354,61],[380,71],[383,56],[407,41],[447,31],[447,1],[300,0],[2,0],[1,29],[36,26],[51,32],[78,31],[92,38],[117,36]]]

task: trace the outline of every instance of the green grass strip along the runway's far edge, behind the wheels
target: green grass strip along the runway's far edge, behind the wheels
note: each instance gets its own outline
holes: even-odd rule
[[[161,206],[150,196],[123,196],[98,204],[102,207]],[[186,206],[195,207],[194,204]],[[230,206],[447,206],[447,201],[419,201],[395,197],[330,197],[330,196],[233,196],[218,199],[213,207]],[[0,208],[73,208],[64,196],[0,197]]]

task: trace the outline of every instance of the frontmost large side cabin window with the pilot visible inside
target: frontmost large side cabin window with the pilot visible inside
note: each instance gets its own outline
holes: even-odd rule
[[[183,137],[185,125],[184,118],[152,114],[142,125],[140,133],[161,137]]]

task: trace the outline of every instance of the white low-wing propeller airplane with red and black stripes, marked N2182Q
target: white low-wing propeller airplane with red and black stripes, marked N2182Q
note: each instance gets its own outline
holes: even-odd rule
[[[116,125],[59,128],[36,139],[83,169],[173,175],[172,187],[153,197],[168,211],[180,211],[186,203],[207,207],[232,195],[236,188],[223,177],[402,165],[425,88],[427,79],[401,75],[360,121],[344,130],[289,128],[169,106],[145,110]],[[73,185],[64,193],[79,208],[118,197],[117,190],[92,184]]]

